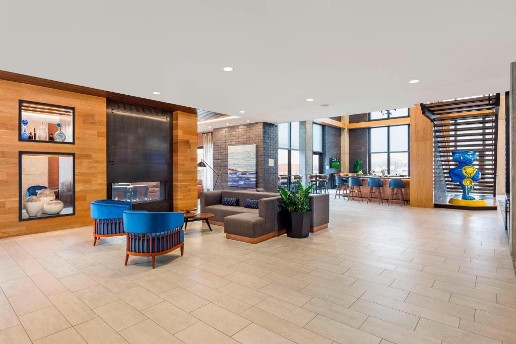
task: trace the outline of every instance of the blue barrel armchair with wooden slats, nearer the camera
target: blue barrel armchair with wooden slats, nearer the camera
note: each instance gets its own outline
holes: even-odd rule
[[[126,210],[123,218],[127,236],[125,265],[130,255],[152,257],[154,269],[156,256],[179,248],[181,248],[181,255],[184,254],[185,220],[182,212]]]

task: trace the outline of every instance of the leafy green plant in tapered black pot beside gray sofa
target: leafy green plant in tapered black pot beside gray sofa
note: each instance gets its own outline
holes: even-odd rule
[[[307,238],[310,233],[312,211],[310,210],[310,190],[313,184],[303,188],[301,182],[297,182],[299,192],[287,190],[284,187],[278,189],[281,196],[280,205],[290,213],[290,225],[287,225],[287,236],[291,238]]]

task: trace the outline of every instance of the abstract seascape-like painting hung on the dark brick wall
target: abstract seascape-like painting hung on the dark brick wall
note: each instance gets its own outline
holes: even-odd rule
[[[256,187],[256,145],[228,146],[228,186]]]

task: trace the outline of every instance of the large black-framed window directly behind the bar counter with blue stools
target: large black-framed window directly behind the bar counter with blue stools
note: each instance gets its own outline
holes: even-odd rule
[[[369,128],[370,170],[409,175],[409,126]]]

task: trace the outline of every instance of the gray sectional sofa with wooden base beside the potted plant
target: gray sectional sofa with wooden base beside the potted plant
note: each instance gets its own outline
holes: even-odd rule
[[[220,190],[201,193],[201,212],[214,214],[210,223],[224,226],[228,239],[257,243],[285,232],[288,214],[280,208],[280,196],[263,189]],[[238,206],[222,205],[224,198],[237,198]],[[245,208],[246,200],[259,200],[258,209]],[[310,195],[311,232],[324,229],[329,222],[329,194]]]

